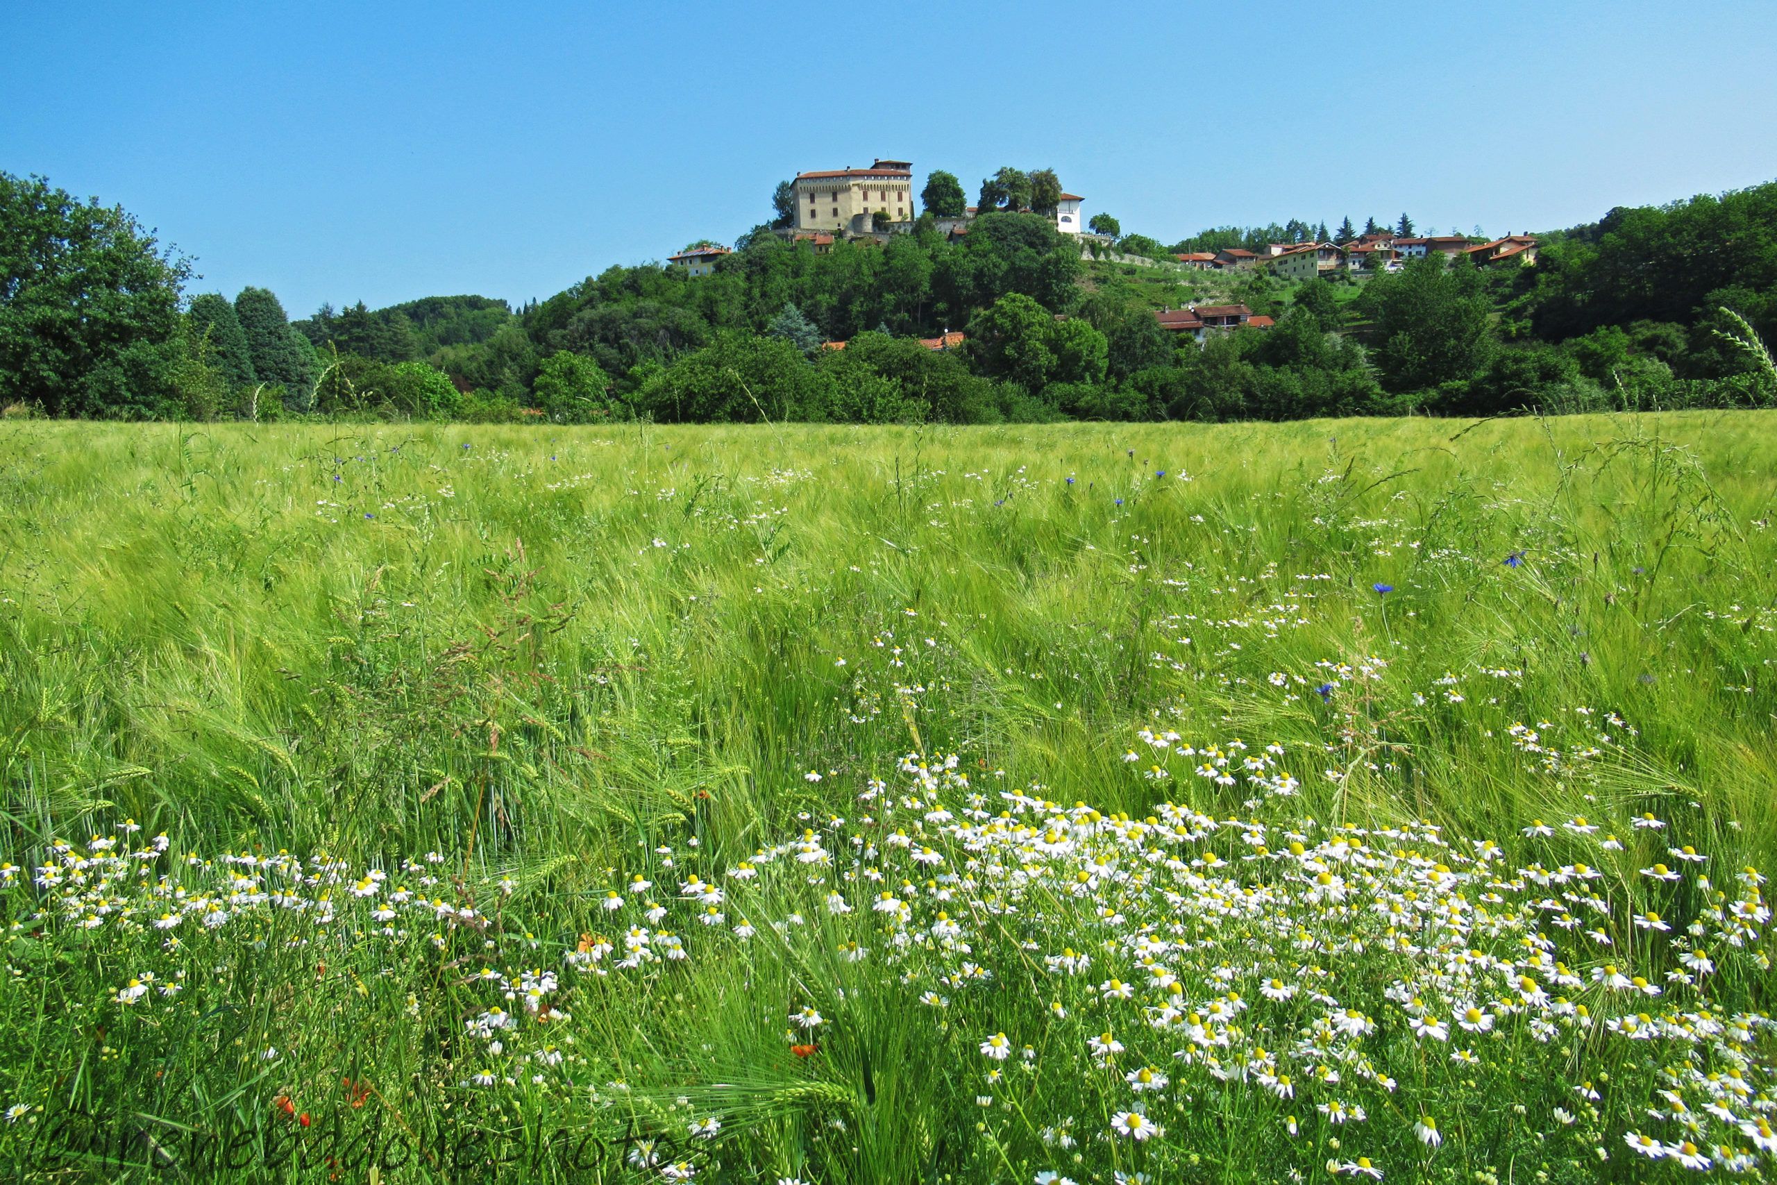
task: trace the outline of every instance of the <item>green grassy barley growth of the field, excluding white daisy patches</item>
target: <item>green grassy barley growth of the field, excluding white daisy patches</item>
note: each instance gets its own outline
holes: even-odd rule
[[[1187,1094],[1180,1066],[1166,1137],[1123,1144],[1104,1135],[1109,1110],[1079,1112],[1070,1151],[1040,1130],[1116,1082],[1082,1086],[1075,1070],[1096,1071],[1056,1070],[1045,1045],[1032,1070],[1008,1068],[1034,1086],[1004,1110],[1016,1093],[983,1086],[974,1046],[1000,1027],[1041,1045],[1043,934],[1088,926],[1063,901],[1025,903],[1048,919],[1040,934],[981,922],[983,959],[1036,970],[1013,982],[1002,963],[967,1007],[947,990],[963,1011],[935,1027],[897,975],[924,986],[954,968],[853,963],[841,952],[880,943],[865,922],[881,915],[830,915],[830,885],[764,878],[745,950],[705,950],[681,924],[697,949],[682,965],[563,970],[565,1087],[464,1084],[485,1039],[466,1036],[487,1007],[471,972],[517,986],[531,961],[562,970],[615,938],[601,903],[634,872],[672,901],[689,871],[716,878],[805,828],[849,835],[878,810],[858,801],[869,778],[904,792],[908,753],[960,755],[977,791],[1040,783],[1137,821],[1171,798],[1279,828],[1429,821],[1516,840],[1530,819],[1589,815],[1633,839],[1626,819],[1653,812],[1722,888],[1736,867],[1772,867],[1777,844],[1773,473],[1765,412],[1466,430],[4,423],[0,858],[55,863],[55,840],[91,851],[130,819],[128,842],[167,835],[167,856],[142,862],[155,876],[187,851],[325,853],[304,894],[332,862],[347,881],[375,867],[430,878],[426,897],[478,920],[400,943],[363,919],[323,938],[249,906],[251,934],[199,929],[167,949],[140,924],[116,942],[50,924],[36,911],[55,913],[55,890],[21,876],[0,1107],[37,1110],[5,1126],[0,1155],[41,1176],[192,1174],[213,1148],[201,1133],[245,1132],[238,1164],[199,1174],[359,1180],[370,1162],[339,1149],[375,1117],[426,1149],[386,1160],[386,1180],[627,1180],[670,1169],[629,1162],[640,1132],[723,1116],[714,1141],[679,1132],[697,1180],[1326,1176],[1340,1130],[1308,1091],[1297,1146],[1287,1109]],[[1578,753],[1608,712],[1615,741]],[[1301,792],[1262,807],[1166,753],[1173,776],[1143,778],[1143,727],[1276,743]],[[952,860],[965,839],[942,839]],[[1633,913],[1665,892],[1637,874],[1658,855],[1631,844],[1590,863]],[[809,929],[768,926],[789,913]],[[1642,950],[1635,929],[1624,940]],[[149,982],[185,970],[187,988],[121,1004],[149,965]],[[1768,1007],[1756,974],[1717,988],[1724,1007]],[[784,1029],[805,1004],[828,1025],[801,1059]],[[1066,1011],[1091,1023],[1091,1007]],[[1557,1148],[1532,1066],[1514,1054],[1475,1087],[1528,1109],[1477,1119],[1461,1148],[1409,1157],[1407,1114],[1358,1146],[1391,1149],[1390,1180],[1674,1167],[1621,1142],[1605,1162]],[[78,1109],[116,1146],[71,1153]],[[1621,1141],[1633,1100],[1601,1109],[1589,1130]],[[290,1126],[297,1114],[311,1125]],[[549,1148],[558,1128],[599,1133],[610,1155],[490,1162],[510,1133]],[[277,1158],[297,1146],[315,1164]]]

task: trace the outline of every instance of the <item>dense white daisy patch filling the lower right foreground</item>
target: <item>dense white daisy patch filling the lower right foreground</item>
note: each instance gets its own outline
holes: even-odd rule
[[[1249,805],[1292,803],[1281,746],[1139,739],[1244,782]],[[981,792],[954,757],[901,773],[899,791],[865,789],[855,823],[684,879],[675,904],[702,924],[666,958],[721,958],[768,920],[880,965],[878,990],[917,993],[938,1038],[979,1059],[981,1107],[1016,1096],[1020,1121],[993,1139],[1038,1157],[1164,1157],[1196,1100],[1240,1096],[1283,1148],[1343,1142],[1365,1155],[1331,1171],[1381,1176],[1446,1141],[1486,1157],[1500,1119],[1480,1116],[1512,1098],[1507,1126],[1589,1158],[1773,1164],[1773,1025],[1749,1007],[1770,966],[1765,878],[1711,872],[1653,814],[1621,821],[1630,844],[1582,819],[1502,842],[1180,803],[1134,819],[1041,787]],[[633,926],[602,961],[572,961],[638,972],[659,949]],[[842,1023],[821,1009],[791,1009],[798,1050]],[[1066,1110],[1032,1116],[1032,1098]]]

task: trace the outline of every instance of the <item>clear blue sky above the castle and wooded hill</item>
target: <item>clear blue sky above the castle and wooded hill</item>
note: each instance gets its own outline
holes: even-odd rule
[[[121,203],[195,291],[547,297],[769,217],[798,169],[1125,231],[1569,226],[1777,176],[1777,2],[0,5],[0,169]]]

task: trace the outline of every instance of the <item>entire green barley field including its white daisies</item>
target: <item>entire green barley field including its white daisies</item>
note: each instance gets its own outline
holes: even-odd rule
[[[1770,1176],[1773,510],[1766,412],[0,423],[0,1164]]]

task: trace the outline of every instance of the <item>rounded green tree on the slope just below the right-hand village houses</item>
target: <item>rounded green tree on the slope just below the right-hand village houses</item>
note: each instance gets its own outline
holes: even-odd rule
[[[1429,391],[1466,380],[1487,362],[1493,334],[1484,279],[1443,259],[1413,259],[1397,274],[1377,274],[1358,298],[1372,322],[1375,364],[1390,391]]]

